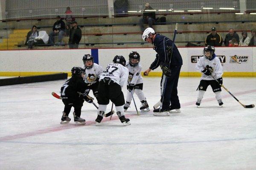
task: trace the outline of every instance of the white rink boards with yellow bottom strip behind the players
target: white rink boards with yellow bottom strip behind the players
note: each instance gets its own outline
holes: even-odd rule
[[[202,55],[203,48],[178,48],[183,58],[180,76],[200,76],[195,71],[195,63]],[[61,49],[61,50],[11,50],[0,51],[0,76],[29,76],[65,72],[70,75],[73,66],[82,66],[84,54],[93,54],[95,62],[106,65],[115,55],[137,51],[141,56],[142,71],[145,71],[155,59],[152,48],[99,48],[99,49]],[[215,54],[221,59],[224,76],[255,77],[256,47],[219,47]],[[160,67],[149,76],[161,76]]]

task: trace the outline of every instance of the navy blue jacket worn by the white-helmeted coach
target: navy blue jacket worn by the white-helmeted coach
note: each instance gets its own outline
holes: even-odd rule
[[[154,39],[154,49],[158,55],[156,56],[156,59],[154,60],[154,62],[152,62],[152,64],[149,67],[151,70],[156,69],[161,62],[169,62],[170,56],[168,55],[166,50],[167,46],[172,47],[172,40],[170,40],[168,37],[157,34]],[[182,64],[183,63],[180,52],[178,51],[176,45],[174,45],[171,66]]]

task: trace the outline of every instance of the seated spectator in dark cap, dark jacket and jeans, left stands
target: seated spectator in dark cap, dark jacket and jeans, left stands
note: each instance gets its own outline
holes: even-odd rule
[[[57,21],[53,24],[52,32],[49,34],[49,43],[54,44],[54,36],[58,35],[58,45],[61,45],[62,37],[65,34],[65,23],[57,16]]]

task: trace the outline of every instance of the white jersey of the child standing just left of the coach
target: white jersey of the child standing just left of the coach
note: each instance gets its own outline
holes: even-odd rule
[[[132,67],[129,62],[126,62],[125,67],[129,70],[129,77],[128,82],[129,84],[140,84],[143,83],[143,78],[140,74],[142,70],[142,66],[140,64],[136,65],[135,67]]]

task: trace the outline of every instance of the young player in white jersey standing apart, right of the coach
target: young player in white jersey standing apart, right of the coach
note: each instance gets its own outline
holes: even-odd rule
[[[222,107],[223,102],[221,100],[221,85],[222,85],[222,74],[223,69],[220,62],[220,59],[216,57],[215,48],[213,46],[204,47],[204,57],[201,57],[195,69],[202,73],[200,84],[198,86],[198,99],[195,103],[197,107],[201,104],[204,93],[209,85],[212,87],[212,91],[215,93],[215,98],[218,101],[218,104]],[[215,79],[218,80],[218,82]]]

